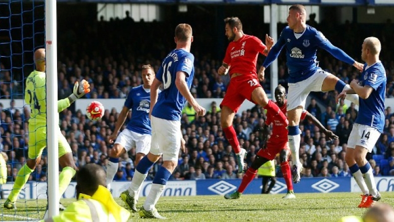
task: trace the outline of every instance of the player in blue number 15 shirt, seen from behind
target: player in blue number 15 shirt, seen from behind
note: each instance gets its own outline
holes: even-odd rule
[[[195,70],[194,55],[190,53],[193,35],[189,24],[179,24],[176,27],[175,42],[177,48],[163,60],[151,86],[151,150],[137,165],[129,192],[126,193],[127,204],[131,209],[136,209],[137,191],[153,164],[163,155],[163,165],[153,179],[144,206],[138,212],[142,218],[165,219],[157,212],[155,205],[166,187],[167,180],[177,167],[180,148],[185,149],[181,113],[186,101],[199,116],[205,114],[205,109],[198,105],[190,93]],[[163,91],[158,96],[161,85]]]

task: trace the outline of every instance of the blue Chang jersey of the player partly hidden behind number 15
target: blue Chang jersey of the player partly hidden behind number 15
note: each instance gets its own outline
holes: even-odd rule
[[[143,86],[134,87],[130,90],[125,102],[125,107],[132,110],[131,119],[126,128],[141,134],[152,134],[151,120],[149,119],[151,90],[147,91]]]

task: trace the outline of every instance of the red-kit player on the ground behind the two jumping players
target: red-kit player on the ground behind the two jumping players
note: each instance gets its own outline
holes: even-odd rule
[[[283,113],[287,112],[287,100],[286,100],[286,91],[281,85],[276,87],[275,89],[275,99],[276,104],[280,107],[280,110]],[[338,136],[335,135],[332,131],[326,129],[319,120],[315,116],[313,116],[308,111],[304,110],[301,114],[301,119],[310,119],[313,124],[319,127],[320,131],[326,135],[328,140],[338,139]],[[268,139],[268,130],[269,125],[273,123],[272,127],[272,135]],[[265,120],[265,125],[263,129],[263,135],[265,137],[266,143],[264,144],[264,148],[260,149],[257,152],[256,158],[252,162],[252,165],[246,171],[246,174],[242,178],[242,183],[239,185],[239,188],[236,192],[232,194],[226,194],[224,196],[225,199],[238,199],[249,183],[254,179],[257,173],[257,169],[262,166],[267,161],[273,160],[276,154],[279,153],[280,160],[280,168],[282,170],[283,177],[286,181],[287,185],[287,194],[283,197],[285,199],[295,198],[293,192],[293,184],[291,181],[291,170],[288,162],[288,158],[290,156],[290,149],[287,142],[287,125],[284,125],[279,121],[278,115],[276,112],[272,113],[272,111],[267,111],[267,119]]]

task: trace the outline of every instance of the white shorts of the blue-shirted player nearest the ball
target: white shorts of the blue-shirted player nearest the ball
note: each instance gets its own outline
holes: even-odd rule
[[[152,136],[149,134],[141,134],[125,128],[121,133],[119,133],[115,144],[122,145],[126,152],[131,148],[136,147],[136,153],[143,153],[146,155],[151,148],[151,139]]]

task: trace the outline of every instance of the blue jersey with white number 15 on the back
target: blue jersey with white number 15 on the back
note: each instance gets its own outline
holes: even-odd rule
[[[186,73],[186,83],[192,86],[194,77],[194,55],[183,49],[171,51],[163,60],[162,66],[156,73],[156,79],[163,83],[163,91],[159,94],[152,115],[167,120],[181,120],[181,113],[186,99],[175,85],[177,72]]]

